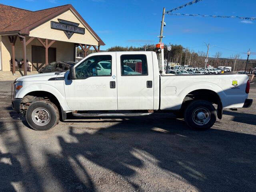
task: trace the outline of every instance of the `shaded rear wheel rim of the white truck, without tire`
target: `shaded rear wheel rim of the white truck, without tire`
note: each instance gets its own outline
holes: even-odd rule
[[[192,120],[197,125],[205,125],[211,119],[211,113],[207,108],[198,107],[192,113]]]

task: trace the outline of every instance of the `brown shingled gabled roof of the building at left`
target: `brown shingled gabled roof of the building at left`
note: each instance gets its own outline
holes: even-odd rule
[[[58,16],[62,12],[71,10],[82,24],[98,40],[99,45],[105,45],[100,37],[92,30],[88,23],[80,16],[71,4],[48,8],[39,11],[29,11],[12,6],[0,4],[0,32],[19,32],[20,34],[29,34],[30,30],[43,24],[44,22]]]

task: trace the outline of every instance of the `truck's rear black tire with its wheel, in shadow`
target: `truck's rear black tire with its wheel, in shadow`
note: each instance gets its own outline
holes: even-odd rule
[[[201,120],[201,118],[203,119]],[[186,108],[184,119],[190,128],[206,130],[216,122],[217,113],[212,103],[205,100],[195,100]]]

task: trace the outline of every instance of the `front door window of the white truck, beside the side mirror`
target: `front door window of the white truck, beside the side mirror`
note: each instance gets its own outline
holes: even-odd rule
[[[76,78],[86,79],[92,76],[111,76],[111,68],[111,55],[92,56],[76,67]]]

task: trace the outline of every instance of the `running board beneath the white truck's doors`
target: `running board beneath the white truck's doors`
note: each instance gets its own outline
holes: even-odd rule
[[[76,117],[137,117],[137,116],[147,116],[153,114],[153,112],[148,113],[72,113]]]

